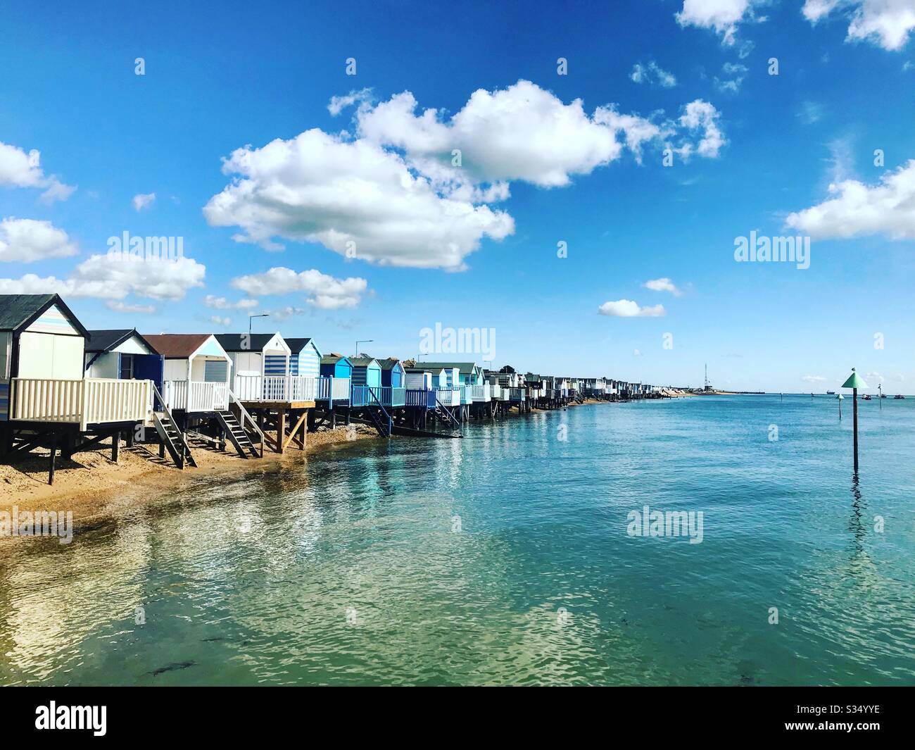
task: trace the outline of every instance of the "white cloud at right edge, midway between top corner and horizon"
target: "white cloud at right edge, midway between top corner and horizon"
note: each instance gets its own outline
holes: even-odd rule
[[[915,239],[915,159],[868,187],[856,179],[829,186],[834,197],[789,214],[785,223],[814,239],[884,234]]]

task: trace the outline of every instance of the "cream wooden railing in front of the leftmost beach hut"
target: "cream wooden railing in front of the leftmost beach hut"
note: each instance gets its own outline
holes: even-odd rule
[[[87,425],[139,422],[153,408],[152,382],[86,377],[81,380],[15,377],[9,418]]]

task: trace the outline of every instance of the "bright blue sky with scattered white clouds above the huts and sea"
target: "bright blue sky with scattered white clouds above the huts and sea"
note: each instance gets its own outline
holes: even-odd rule
[[[525,370],[912,390],[915,0],[42,5],[5,4],[0,291],[89,328],[268,310],[325,351],[440,323]],[[125,231],[183,264],[115,264]],[[751,231],[810,267],[736,262]]]

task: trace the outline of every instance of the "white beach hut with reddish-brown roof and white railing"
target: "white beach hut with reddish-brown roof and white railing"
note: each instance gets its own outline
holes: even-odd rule
[[[195,413],[229,408],[232,362],[210,333],[145,335],[165,357],[162,396],[171,410]]]

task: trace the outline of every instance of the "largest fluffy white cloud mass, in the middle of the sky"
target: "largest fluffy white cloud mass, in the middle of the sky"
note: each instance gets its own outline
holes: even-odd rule
[[[658,125],[612,104],[588,115],[581,100],[563,103],[527,81],[474,92],[447,121],[435,109],[416,114],[410,92],[375,105],[350,92],[331,104],[339,112],[357,102],[356,136],[312,129],[236,149],[223,163],[231,184],[204,207],[207,221],[240,226],[236,242],[268,250],[285,238],[383,265],[462,270],[483,239],[514,232],[511,215],[489,205],[509,198],[511,180],[562,187],[624,148],[638,160],[646,143],[677,137],[684,158],[714,158],[724,142],[715,107],[701,100]],[[697,106],[702,113],[689,114]]]

